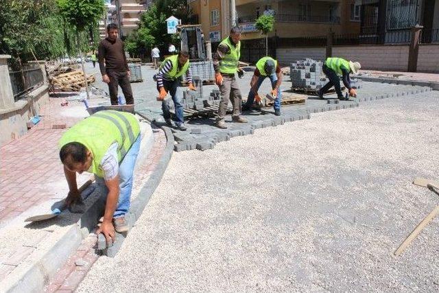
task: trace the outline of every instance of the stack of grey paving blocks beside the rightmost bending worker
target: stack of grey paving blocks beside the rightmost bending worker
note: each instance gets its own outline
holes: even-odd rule
[[[322,71],[323,62],[307,58],[291,63],[289,76],[291,77],[292,89],[317,91],[329,80]],[[341,84],[343,86],[343,84]],[[351,85],[361,88],[361,80],[351,79]]]

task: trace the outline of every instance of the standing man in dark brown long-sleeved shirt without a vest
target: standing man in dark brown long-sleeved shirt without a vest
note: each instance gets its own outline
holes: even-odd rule
[[[118,28],[115,23],[107,26],[108,36],[99,43],[99,69],[102,81],[108,84],[112,105],[119,104],[117,99],[118,86],[121,86],[126,104],[134,104],[130,84],[130,69],[126,62],[125,49],[117,37]]]

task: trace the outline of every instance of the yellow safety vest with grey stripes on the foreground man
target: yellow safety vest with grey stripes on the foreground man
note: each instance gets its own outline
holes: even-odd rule
[[[64,132],[58,145],[59,148],[72,142],[85,145],[93,154],[92,172],[104,177],[104,170],[99,165],[110,145],[118,143],[117,159],[120,164],[139,134],[139,122],[131,113],[102,110]]]

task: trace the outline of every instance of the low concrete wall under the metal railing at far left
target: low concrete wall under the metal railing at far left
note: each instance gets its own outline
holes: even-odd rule
[[[12,108],[0,109],[0,145],[19,139],[27,133],[27,121],[40,113],[40,108],[49,102],[47,85],[29,93],[29,99],[21,99]]]

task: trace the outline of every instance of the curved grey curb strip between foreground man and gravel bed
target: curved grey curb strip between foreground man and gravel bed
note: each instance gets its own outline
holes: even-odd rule
[[[141,117],[143,117],[143,115],[141,115]],[[172,134],[171,129],[165,126],[163,126],[162,129],[165,132],[165,136],[167,139],[165,150],[160,158],[160,161],[158,162],[158,165],[156,166],[154,171],[152,171],[150,178],[148,178],[145,185],[143,185],[141,191],[139,191],[139,196],[137,196],[137,198],[135,198],[131,202],[130,211],[126,215],[126,221],[128,222],[130,228],[132,228],[137,219],[139,219],[140,215],[143,212],[143,209],[145,209],[146,204],[150,200],[152,194],[154,194],[154,191],[158,187],[158,184],[160,183],[163,174],[165,174],[165,170],[169,161],[171,160],[172,153],[174,152],[174,135]],[[123,244],[123,240],[125,240],[126,238],[126,235],[127,233],[116,233],[115,244],[106,248],[105,250],[102,250],[102,253],[104,255],[107,255],[108,257],[114,257],[120,250]]]

